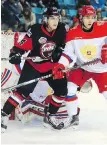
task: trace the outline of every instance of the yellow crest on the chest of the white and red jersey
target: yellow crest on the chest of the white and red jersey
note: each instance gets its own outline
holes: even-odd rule
[[[94,45],[88,44],[81,47],[80,52],[86,60],[91,60],[91,59],[94,59],[97,54],[97,47]]]

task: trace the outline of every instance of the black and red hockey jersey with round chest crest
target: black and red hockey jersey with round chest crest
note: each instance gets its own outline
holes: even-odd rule
[[[55,49],[65,44],[66,29],[62,23],[52,33],[49,33],[42,24],[35,24],[26,33],[25,37],[16,43],[13,49],[23,54],[31,50],[28,56],[37,56],[40,62],[26,60],[36,70],[46,72],[52,68],[51,57]]]

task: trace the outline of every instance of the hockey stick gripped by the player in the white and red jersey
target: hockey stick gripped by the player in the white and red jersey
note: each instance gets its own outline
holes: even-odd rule
[[[96,58],[96,59],[94,59],[92,61],[85,62],[85,63],[83,63],[81,65],[77,65],[77,66],[74,66],[72,68],[68,68],[68,69],[64,70],[63,72],[72,71],[72,70],[75,70],[75,69],[78,69],[78,68],[81,68],[81,67],[87,66],[87,65],[93,65],[93,64],[96,64],[96,63],[98,63],[100,61],[101,61],[101,59]],[[40,77],[40,78],[36,78],[36,79],[30,80],[30,81],[27,81],[27,82],[20,83],[18,85],[14,85],[14,86],[11,86],[11,87],[8,87],[8,88],[1,89],[1,91],[5,92],[5,91],[9,91],[9,90],[14,90],[15,88],[26,86],[28,84],[32,84],[32,83],[37,82],[39,80],[43,80],[43,79],[49,78],[51,76],[52,76],[52,74],[49,74],[49,75],[46,75],[46,76],[43,76],[43,77]]]

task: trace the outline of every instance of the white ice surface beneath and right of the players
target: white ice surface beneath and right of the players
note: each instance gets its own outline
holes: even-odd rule
[[[107,100],[94,85],[90,93],[79,93],[80,125],[77,130],[50,130],[40,120],[22,124],[9,121],[7,131],[1,135],[2,144],[70,144],[107,145]]]

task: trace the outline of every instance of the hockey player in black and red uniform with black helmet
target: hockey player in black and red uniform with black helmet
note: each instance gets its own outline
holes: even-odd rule
[[[18,84],[52,73],[53,64],[58,61],[65,44],[66,30],[64,24],[60,23],[60,15],[55,7],[48,8],[43,14],[44,23],[31,26],[25,37],[13,46],[10,53],[11,64],[19,64],[21,56],[30,50],[29,57],[35,56],[33,60],[26,60]],[[38,61],[39,59],[39,61]],[[56,126],[51,120],[67,95],[67,80],[46,79],[54,90],[50,105],[45,109],[44,123],[55,129],[60,129],[63,125]],[[17,88],[14,95],[10,96],[2,109],[2,129],[7,128],[7,118],[9,114],[18,106],[20,100],[29,96],[34,90],[36,83]]]

